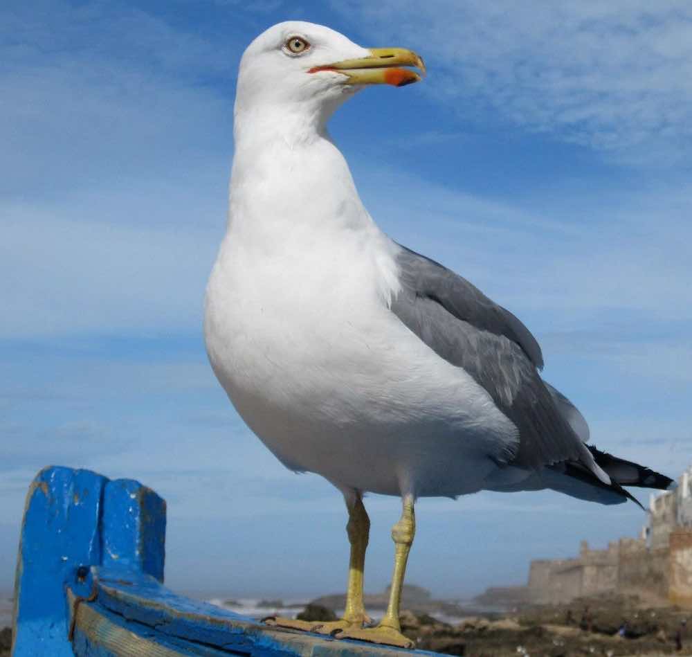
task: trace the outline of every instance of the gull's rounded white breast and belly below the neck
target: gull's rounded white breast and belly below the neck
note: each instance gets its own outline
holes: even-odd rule
[[[208,287],[212,367],[286,465],[347,487],[455,495],[482,487],[516,429],[463,370],[388,309],[392,243],[346,231],[252,249],[229,235]],[[288,248],[286,248],[288,247]]]

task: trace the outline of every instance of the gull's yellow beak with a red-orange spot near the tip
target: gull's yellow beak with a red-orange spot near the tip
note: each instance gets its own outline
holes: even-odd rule
[[[314,66],[308,73],[337,71],[348,76],[346,84],[393,84],[394,87],[421,80],[421,75],[415,71],[399,66],[415,66],[423,75],[426,73],[421,57],[406,48],[370,48],[369,57]]]

